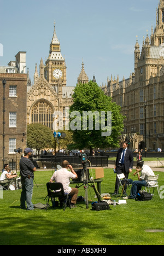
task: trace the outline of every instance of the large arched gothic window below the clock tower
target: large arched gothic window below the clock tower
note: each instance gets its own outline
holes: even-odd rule
[[[53,130],[52,114],[53,109],[51,106],[45,101],[40,101],[32,108],[31,123],[43,124]]]

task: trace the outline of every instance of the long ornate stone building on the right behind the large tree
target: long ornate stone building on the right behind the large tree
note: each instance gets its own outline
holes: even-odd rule
[[[134,49],[134,73],[130,78],[108,79],[102,90],[121,106],[126,116],[122,140],[130,139],[131,148],[164,150],[164,1],[156,11],[156,27],[151,36],[138,39]]]

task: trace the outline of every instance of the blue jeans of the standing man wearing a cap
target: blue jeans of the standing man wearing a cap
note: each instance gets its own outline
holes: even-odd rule
[[[33,193],[33,179],[22,179],[22,193],[21,193],[21,209],[33,210],[33,203],[32,203],[32,193]]]

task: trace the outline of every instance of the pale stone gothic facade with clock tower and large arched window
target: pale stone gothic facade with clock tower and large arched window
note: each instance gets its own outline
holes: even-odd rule
[[[61,126],[65,126],[66,109],[73,103],[72,95],[75,88],[74,86],[66,86],[66,68],[54,24],[49,57],[45,65],[41,59],[39,73],[36,64],[33,86],[31,86],[29,73],[27,75],[27,124],[41,123],[50,127],[51,130],[58,130]],[[89,78],[84,71],[84,63],[82,63],[78,83],[88,82]],[[58,115],[54,115],[57,112],[63,113],[62,125],[57,121]]]

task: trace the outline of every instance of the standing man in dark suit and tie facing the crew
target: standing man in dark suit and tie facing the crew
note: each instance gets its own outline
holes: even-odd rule
[[[133,168],[133,153],[131,149],[127,148],[128,143],[125,141],[122,144],[122,148],[118,150],[115,170],[117,174],[124,173],[125,178],[128,179],[128,174],[132,172]],[[119,179],[116,177],[114,194],[118,193]]]

